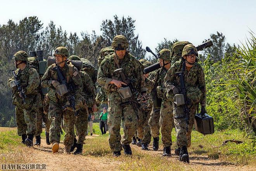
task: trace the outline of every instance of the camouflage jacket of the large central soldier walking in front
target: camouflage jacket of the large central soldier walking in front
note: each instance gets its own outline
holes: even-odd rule
[[[112,79],[122,81],[121,76],[114,73],[114,70],[118,69],[114,57],[115,54],[112,54],[102,60],[97,76],[98,83],[106,89],[107,93],[117,91],[117,86],[110,84]],[[123,72],[128,82],[134,86],[133,89],[135,89],[136,92],[134,93],[136,94],[147,91],[140,65],[140,62],[127,52],[122,62],[119,61],[120,68],[123,68]]]

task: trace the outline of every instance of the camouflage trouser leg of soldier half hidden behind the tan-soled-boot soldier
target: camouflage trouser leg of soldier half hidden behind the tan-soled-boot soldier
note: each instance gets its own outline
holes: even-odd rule
[[[75,123],[76,135],[78,136],[78,144],[84,144],[87,127],[88,114],[86,112],[86,109],[80,109]]]

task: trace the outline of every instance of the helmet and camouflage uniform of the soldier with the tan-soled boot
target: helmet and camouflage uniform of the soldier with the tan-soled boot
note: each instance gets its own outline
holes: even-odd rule
[[[55,50],[55,54],[63,55],[65,57],[69,56],[68,51],[65,47],[58,47]],[[62,117],[66,124],[66,133],[64,136],[63,144],[65,145],[66,152],[68,152],[73,145],[74,140],[74,124],[76,123],[76,117],[74,116],[74,111],[71,111],[67,108],[62,109],[64,105],[69,104],[67,100],[67,94],[64,94],[62,97],[57,94],[55,87],[52,85],[52,80],[58,80],[57,71],[52,70],[56,64],[49,66],[42,77],[42,86],[49,88],[48,96],[50,99],[49,109],[48,109],[48,118],[52,122],[50,126],[50,143],[59,143],[60,142],[60,131],[61,131],[61,120]],[[67,84],[73,85],[74,92],[71,92],[75,96],[76,100],[76,109],[82,103],[81,92],[83,88],[83,83],[79,75],[79,71],[76,67],[71,64],[65,65],[61,68],[63,76],[66,78]],[[56,86],[57,87],[57,86]],[[58,147],[59,149],[59,147]],[[64,150],[65,152],[65,150]]]

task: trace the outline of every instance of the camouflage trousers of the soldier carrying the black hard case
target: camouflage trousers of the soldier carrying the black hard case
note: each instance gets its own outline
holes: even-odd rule
[[[191,132],[194,125],[194,118],[197,111],[198,104],[189,105],[190,115],[189,115],[189,126],[188,132],[186,133],[186,122],[183,118],[176,119],[175,117],[183,117],[183,108],[178,107],[176,104],[173,104],[173,116],[174,124],[176,128],[176,138],[178,147],[191,145]]]

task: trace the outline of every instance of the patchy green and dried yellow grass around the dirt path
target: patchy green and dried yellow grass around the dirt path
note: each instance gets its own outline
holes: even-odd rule
[[[94,133],[101,134],[99,124],[93,124]],[[123,131],[123,130],[122,130]],[[256,147],[253,147],[250,139],[243,138],[244,132],[239,130],[216,131],[213,135],[202,135],[196,131],[192,131],[192,145],[189,148],[191,156],[203,155],[209,159],[218,159],[222,164],[232,165],[248,165],[254,164],[256,161]],[[44,132],[42,137],[44,137]],[[173,145],[176,146],[175,130],[172,132]],[[108,142],[109,134],[87,138],[83,145],[83,155],[99,157],[108,162],[118,162],[121,170],[185,170],[180,166],[178,160],[170,162],[170,158],[163,158],[161,155],[152,155],[143,153],[141,150],[133,150],[132,157],[126,157],[123,154],[121,157],[112,157],[111,149]],[[63,140],[64,135],[61,135]],[[225,140],[240,140],[243,143],[227,143],[222,145]],[[160,146],[162,144],[160,143]],[[23,147],[21,145],[21,137],[17,136],[16,131],[0,132],[0,154],[14,152],[15,149]],[[17,148],[16,148],[17,147]],[[132,146],[132,148],[134,148]],[[173,158],[173,157],[171,157]],[[179,167],[179,168],[177,168]]]

